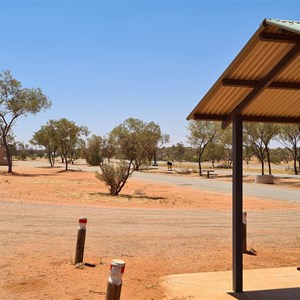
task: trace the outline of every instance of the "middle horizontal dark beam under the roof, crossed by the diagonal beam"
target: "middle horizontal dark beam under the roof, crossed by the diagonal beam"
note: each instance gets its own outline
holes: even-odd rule
[[[247,87],[254,88],[259,84],[258,80],[241,80],[241,79],[223,79],[222,85],[228,87]],[[287,90],[299,90],[300,82],[278,82],[274,81],[267,87],[270,89],[287,89]]]

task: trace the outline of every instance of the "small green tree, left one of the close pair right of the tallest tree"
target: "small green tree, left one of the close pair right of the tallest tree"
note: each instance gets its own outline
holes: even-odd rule
[[[43,125],[40,130],[36,131],[30,143],[45,147],[50,166],[54,167],[59,146],[54,121],[48,121],[46,125]]]

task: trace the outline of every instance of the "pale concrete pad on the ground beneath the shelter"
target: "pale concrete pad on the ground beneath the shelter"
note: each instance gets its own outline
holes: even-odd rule
[[[170,275],[162,278],[165,299],[299,300],[297,267],[244,270],[244,292],[232,292],[232,272]]]

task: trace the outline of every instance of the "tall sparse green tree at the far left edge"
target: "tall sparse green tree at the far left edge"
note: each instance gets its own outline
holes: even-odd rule
[[[10,71],[0,74],[0,134],[8,160],[8,172],[12,173],[12,155],[8,136],[21,116],[36,114],[50,108],[51,101],[40,88],[22,88],[20,81]]]

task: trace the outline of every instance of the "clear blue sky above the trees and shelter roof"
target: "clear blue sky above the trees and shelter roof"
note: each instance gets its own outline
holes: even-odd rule
[[[185,143],[187,115],[263,19],[299,12],[297,0],[0,0],[0,71],[53,103],[19,119],[16,140],[49,119],[104,135],[134,117]]]

